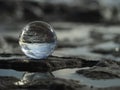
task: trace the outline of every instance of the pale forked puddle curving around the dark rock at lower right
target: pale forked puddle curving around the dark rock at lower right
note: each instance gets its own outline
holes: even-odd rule
[[[55,77],[77,80],[80,81],[81,84],[85,84],[88,86],[103,87],[103,88],[111,87],[111,86],[120,86],[120,79],[93,80],[90,78],[86,78],[83,75],[77,74],[76,71],[80,69],[88,69],[88,67],[75,68],[75,69],[62,69],[62,70],[54,71],[53,74],[55,75]]]

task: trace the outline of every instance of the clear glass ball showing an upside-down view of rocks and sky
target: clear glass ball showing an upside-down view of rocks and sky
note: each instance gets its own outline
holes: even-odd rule
[[[45,59],[56,47],[57,37],[46,22],[34,21],[27,24],[20,35],[19,45],[24,54],[33,59]]]

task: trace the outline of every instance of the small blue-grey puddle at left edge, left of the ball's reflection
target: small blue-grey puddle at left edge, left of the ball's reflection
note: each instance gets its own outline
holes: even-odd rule
[[[25,72],[19,72],[12,69],[0,69],[0,76],[16,77],[21,79]]]

